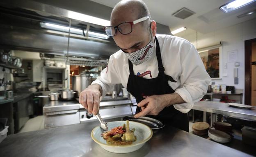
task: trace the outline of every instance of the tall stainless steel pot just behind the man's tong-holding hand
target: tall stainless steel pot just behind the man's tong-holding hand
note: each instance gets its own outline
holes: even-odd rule
[[[92,77],[86,76],[85,74],[72,76],[72,89],[78,91],[79,94],[87,88],[92,82]]]

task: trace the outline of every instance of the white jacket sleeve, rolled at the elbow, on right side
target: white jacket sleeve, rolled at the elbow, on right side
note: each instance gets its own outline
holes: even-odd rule
[[[181,61],[181,86],[175,90],[175,93],[178,93],[186,103],[175,104],[174,108],[182,113],[187,113],[193,107],[194,102],[198,102],[206,94],[211,79],[192,44],[183,58]]]

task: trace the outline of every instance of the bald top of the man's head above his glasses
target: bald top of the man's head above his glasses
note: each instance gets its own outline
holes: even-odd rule
[[[111,25],[116,26],[119,23],[134,21],[145,16],[151,17],[148,7],[142,0],[122,0],[112,10],[110,22]],[[149,24],[150,20],[142,23]]]

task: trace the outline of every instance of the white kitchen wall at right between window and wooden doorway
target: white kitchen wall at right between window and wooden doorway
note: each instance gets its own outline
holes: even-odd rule
[[[245,40],[256,38],[256,18],[242,22],[240,24],[220,29],[211,33],[202,34],[196,31],[192,31],[189,34],[179,35],[181,38],[192,42],[194,46],[198,46],[198,49],[216,44],[220,41],[222,45],[222,65],[223,72],[221,79],[213,79],[215,84],[226,84],[229,86],[235,86],[235,88],[245,88]],[[185,31],[184,31],[185,32]],[[198,39],[196,42],[196,38]],[[240,66],[236,67],[234,62],[228,62],[229,51],[238,51],[238,62]],[[239,83],[234,84],[233,69],[238,68]]]

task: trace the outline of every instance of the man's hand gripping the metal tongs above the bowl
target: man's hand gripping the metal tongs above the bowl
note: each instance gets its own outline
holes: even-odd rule
[[[79,95],[79,103],[91,114],[96,115],[99,111],[102,89],[99,84],[91,84]]]

